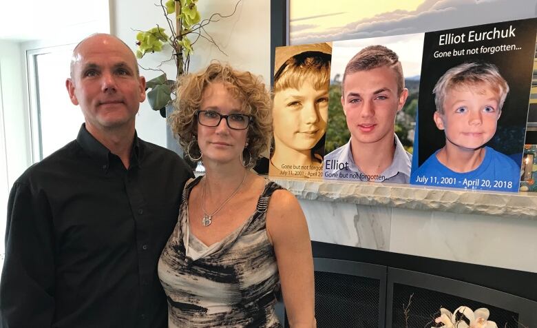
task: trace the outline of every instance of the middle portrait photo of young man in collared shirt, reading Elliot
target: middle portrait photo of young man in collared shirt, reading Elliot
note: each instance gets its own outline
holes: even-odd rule
[[[408,184],[423,34],[333,45],[323,178]]]

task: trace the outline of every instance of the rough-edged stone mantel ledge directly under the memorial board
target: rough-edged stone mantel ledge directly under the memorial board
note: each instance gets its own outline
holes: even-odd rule
[[[299,199],[537,220],[537,192],[483,192],[352,181],[272,178]]]

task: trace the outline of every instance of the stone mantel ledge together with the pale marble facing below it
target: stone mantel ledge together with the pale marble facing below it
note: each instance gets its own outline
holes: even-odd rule
[[[312,240],[537,273],[537,193],[272,179]]]

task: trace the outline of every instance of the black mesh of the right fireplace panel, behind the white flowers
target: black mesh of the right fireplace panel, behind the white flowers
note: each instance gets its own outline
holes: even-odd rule
[[[457,307],[463,305],[474,311],[480,307],[486,307],[490,311],[489,320],[496,322],[498,327],[518,328],[518,314],[486,303],[402,284],[394,284],[393,294],[392,327],[394,328],[441,327],[441,325],[435,326],[434,324],[434,318],[439,316],[440,308],[455,311]],[[411,295],[412,301],[408,307]],[[408,307],[408,325],[404,314],[406,307]]]

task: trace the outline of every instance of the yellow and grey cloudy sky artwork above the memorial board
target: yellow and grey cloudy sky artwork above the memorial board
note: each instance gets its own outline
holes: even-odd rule
[[[537,0],[290,0],[289,10],[293,45],[533,18]]]

